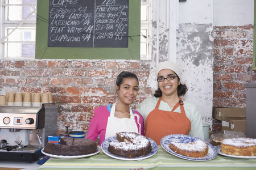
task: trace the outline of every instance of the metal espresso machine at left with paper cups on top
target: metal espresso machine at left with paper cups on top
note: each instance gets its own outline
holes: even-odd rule
[[[0,161],[35,162],[57,132],[57,106],[0,106]],[[1,162],[0,162],[1,163]]]

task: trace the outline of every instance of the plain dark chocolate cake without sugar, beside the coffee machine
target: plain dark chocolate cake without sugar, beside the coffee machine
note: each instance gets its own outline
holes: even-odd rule
[[[44,148],[44,152],[53,155],[87,155],[97,151],[96,142],[85,138],[61,138],[60,144],[48,142]]]

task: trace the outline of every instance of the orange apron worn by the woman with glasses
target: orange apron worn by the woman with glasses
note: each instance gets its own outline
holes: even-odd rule
[[[188,135],[191,130],[191,122],[185,114],[181,98],[179,97],[180,101],[175,104],[171,112],[158,109],[161,99],[162,97],[159,98],[155,109],[148,114],[145,121],[145,136],[153,139],[158,145],[160,145],[161,139],[166,135]],[[174,112],[179,106],[181,113]]]

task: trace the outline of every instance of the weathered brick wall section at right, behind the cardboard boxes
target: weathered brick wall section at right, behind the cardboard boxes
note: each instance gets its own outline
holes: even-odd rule
[[[253,25],[214,27],[213,107],[246,108],[243,83],[256,82]],[[213,120],[213,131],[221,122]]]

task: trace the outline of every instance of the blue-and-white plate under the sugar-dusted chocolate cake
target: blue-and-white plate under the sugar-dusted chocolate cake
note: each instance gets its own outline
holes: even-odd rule
[[[150,138],[148,138],[148,139],[150,139]],[[115,158],[115,159],[120,159],[120,160],[142,160],[142,159],[150,158],[151,156],[155,155],[156,152],[158,152],[158,145],[156,144],[155,141],[150,139],[152,151],[149,154],[147,154],[145,156],[139,156],[139,157],[136,157],[136,158],[126,158],[126,157],[123,157],[123,156],[117,156],[117,155],[114,155],[114,154],[112,154],[108,151],[110,141],[118,142],[117,141],[117,136],[115,135],[113,137],[109,137],[108,139],[105,139],[105,141],[103,141],[101,143],[101,149],[104,152],[104,154],[108,155],[111,158]]]

